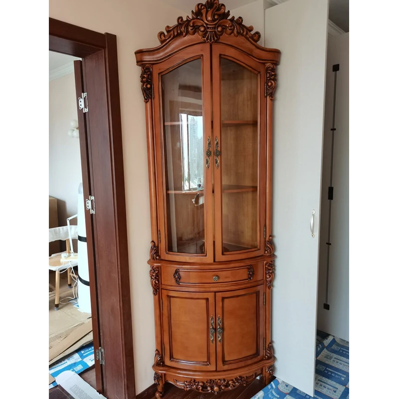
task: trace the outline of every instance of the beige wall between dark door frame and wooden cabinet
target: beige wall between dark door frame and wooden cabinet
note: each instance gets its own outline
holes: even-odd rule
[[[151,231],[146,123],[134,52],[157,46],[158,32],[182,14],[156,0],[49,1],[50,17],[117,36],[137,393],[154,383],[156,348],[147,265]]]

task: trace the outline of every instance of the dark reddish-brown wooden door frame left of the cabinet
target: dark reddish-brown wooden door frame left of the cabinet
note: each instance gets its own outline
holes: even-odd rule
[[[94,196],[86,213],[97,391],[108,399],[135,398],[132,314],[126,227],[125,182],[116,36],[49,18],[49,50],[82,58],[89,111],[79,113],[84,195]],[[95,248],[95,250],[94,250]],[[89,256],[90,258],[90,256]]]

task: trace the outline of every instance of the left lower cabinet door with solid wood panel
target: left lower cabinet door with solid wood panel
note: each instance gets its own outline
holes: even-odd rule
[[[190,370],[216,370],[215,294],[162,290],[165,364]],[[214,328],[216,330],[216,328]]]

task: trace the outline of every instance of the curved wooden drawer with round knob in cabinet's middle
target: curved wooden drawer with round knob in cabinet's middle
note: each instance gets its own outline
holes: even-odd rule
[[[263,262],[244,266],[162,266],[162,284],[172,286],[220,285],[263,279]]]

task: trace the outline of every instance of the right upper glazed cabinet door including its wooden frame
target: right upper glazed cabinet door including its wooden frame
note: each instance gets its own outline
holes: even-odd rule
[[[240,259],[264,247],[264,71],[236,50],[213,51],[216,260]]]

